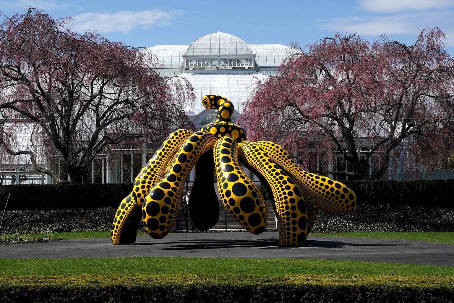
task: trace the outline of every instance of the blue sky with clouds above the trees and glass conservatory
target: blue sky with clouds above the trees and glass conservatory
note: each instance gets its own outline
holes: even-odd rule
[[[28,6],[53,18],[73,17],[76,32],[96,29],[133,47],[190,44],[216,31],[249,44],[299,41],[304,46],[336,32],[357,33],[371,42],[386,33],[412,44],[422,29],[438,26],[454,55],[454,0],[0,0],[7,16]]]

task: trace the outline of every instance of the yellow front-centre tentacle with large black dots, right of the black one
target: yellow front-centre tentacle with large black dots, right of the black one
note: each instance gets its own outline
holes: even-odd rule
[[[247,231],[260,234],[266,228],[266,205],[260,190],[237,162],[238,143],[224,136],[213,148],[217,189],[224,207]]]

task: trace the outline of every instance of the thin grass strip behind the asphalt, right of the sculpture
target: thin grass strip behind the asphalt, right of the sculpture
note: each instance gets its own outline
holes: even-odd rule
[[[385,238],[405,239],[434,243],[454,244],[454,233],[419,233],[419,232],[351,232],[351,233],[310,233],[311,236],[350,237],[350,238]]]

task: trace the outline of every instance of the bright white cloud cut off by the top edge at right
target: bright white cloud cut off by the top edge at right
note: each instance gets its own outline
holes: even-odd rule
[[[374,12],[400,12],[409,10],[443,9],[454,5],[453,0],[360,0],[365,10]]]

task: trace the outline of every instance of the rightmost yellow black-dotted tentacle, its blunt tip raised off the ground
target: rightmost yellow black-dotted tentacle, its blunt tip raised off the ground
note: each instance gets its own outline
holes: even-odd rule
[[[332,214],[348,213],[356,209],[356,195],[345,184],[301,169],[279,144],[260,141],[257,145],[266,151],[292,179],[301,184],[321,209]]]

